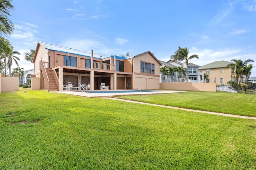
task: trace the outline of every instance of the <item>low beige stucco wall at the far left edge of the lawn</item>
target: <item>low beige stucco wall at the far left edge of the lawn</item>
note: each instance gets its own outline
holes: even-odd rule
[[[1,91],[19,91],[19,77],[1,77]]]

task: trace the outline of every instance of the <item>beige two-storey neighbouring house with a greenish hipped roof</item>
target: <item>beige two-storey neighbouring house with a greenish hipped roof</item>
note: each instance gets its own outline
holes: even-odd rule
[[[229,61],[214,61],[212,63],[199,67],[199,72],[204,75],[206,73],[209,83],[214,83],[214,77],[216,77],[216,83],[218,85],[226,85],[228,81],[234,80],[234,75],[231,77],[231,67],[227,68],[227,65],[232,62]]]

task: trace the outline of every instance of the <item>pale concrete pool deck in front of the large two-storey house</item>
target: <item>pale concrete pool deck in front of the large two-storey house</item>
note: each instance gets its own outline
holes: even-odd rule
[[[95,90],[95,92],[102,90]],[[111,91],[111,90],[110,90]],[[108,91],[108,92],[110,92]],[[112,90],[114,91],[114,90]],[[118,91],[118,90],[115,90]],[[83,96],[83,97],[112,97],[112,96],[123,96],[123,95],[153,95],[153,94],[169,94],[169,93],[183,93],[186,91],[174,91],[174,90],[161,90],[161,91],[150,91],[150,92],[128,92],[129,90],[120,90],[127,91],[125,93],[92,93],[92,92],[82,92],[82,91],[52,91],[54,93],[63,93],[68,95]]]

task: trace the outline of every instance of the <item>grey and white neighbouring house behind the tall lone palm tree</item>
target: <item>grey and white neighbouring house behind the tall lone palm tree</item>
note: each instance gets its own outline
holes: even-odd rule
[[[159,60],[159,61],[162,63],[163,66],[167,65],[168,67],[184,67],[184,68],[186,68],[185,62],[184,63],[180,63],[178,61],[173,62],[172,59],[169,59],[167,62],[161,61],[161,60]],[[198,75],[200,75],[200,73],[198,71],[199,67],[200,67],[199,65],[196,65],[193,63],[188,63],[188,79],[189,80],[196,80],[196,81],[198,80]],[[160,73],[160,76],[163,81],[164,77],[161,73]],[[184,75],[184,77],[186,77],[186,76]],[[171,78],[170,75],[165,75],[165,79],[167,79],[167,82],[169,82],[168,79],[170,79],[170,78]],[[174,73],[173,78],[174,79],[172,79],[172,82],[177,82],[177,79],[178,79],[177,72]]]

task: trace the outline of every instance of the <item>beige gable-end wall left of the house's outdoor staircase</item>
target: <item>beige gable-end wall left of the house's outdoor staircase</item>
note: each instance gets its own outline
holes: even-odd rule
[[[40,72],[39,70],[39,62],[46,61],[48,62],[48,49],[45,49],[44,46],[40,45],[37,51],[35,63],[34,63],[34,74],[37,74]]]

